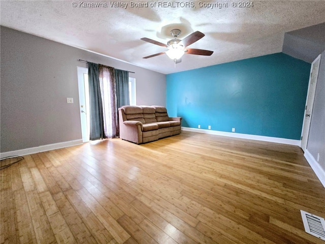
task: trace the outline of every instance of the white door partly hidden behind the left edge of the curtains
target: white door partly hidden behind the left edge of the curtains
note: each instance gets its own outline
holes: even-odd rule
[[[79,104],[82,141],[89,141],[89,86],[88,86],[88,69],[77,67]]]

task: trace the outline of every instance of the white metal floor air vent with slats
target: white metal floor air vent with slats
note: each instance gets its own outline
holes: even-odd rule
[[[309,212],[305,212],[303,210],[300,210],[300,212],[303,218],[306,232],[322,240],[325,240],[325,220],[318,216],[309,214]]]

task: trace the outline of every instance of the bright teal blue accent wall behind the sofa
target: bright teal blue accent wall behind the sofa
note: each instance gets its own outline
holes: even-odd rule
[[[276,53],[168,74],[168,113],[183,127],[300,140],[310,66]]]

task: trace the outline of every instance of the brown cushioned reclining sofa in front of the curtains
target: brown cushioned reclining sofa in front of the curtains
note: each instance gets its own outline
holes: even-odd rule
[[[181,133],[181,117],[169,117],[162,106],[122,106],[120,138],[137,144]]]

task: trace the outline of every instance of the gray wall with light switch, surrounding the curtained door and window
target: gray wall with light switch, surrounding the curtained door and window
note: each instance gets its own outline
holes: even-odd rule
[[[78,59],[136,72],[137,104],[165,106],[164,74],[1,26],[2,153],[82,138]]]

